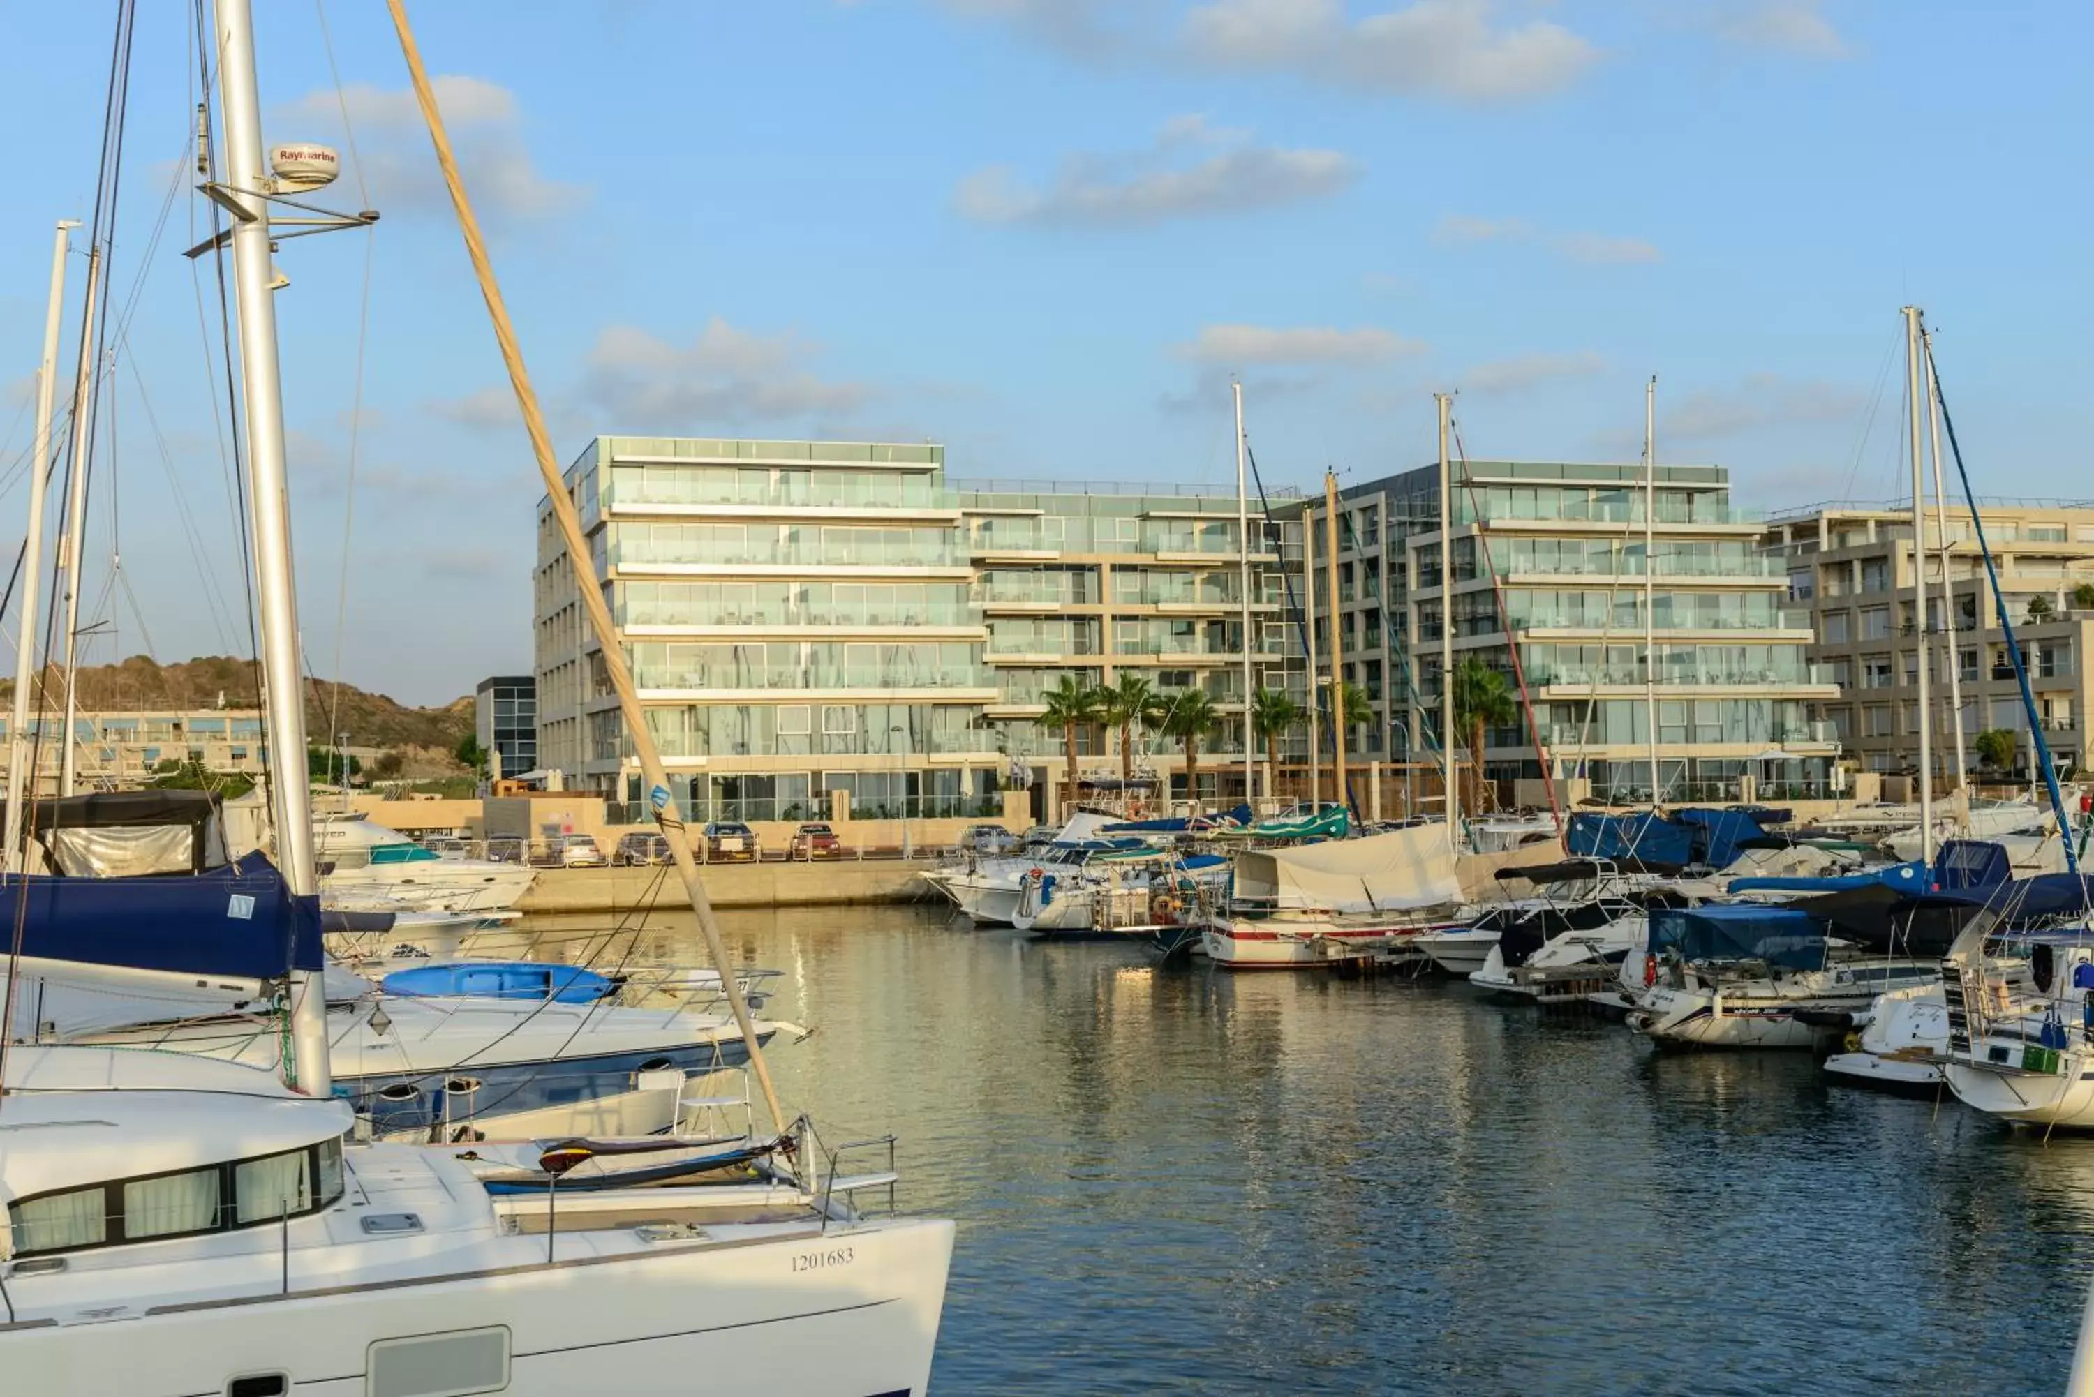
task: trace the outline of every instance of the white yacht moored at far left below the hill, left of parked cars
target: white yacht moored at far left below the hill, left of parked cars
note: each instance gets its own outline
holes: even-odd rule
[[[364,815],[314,815],[320,901],[337,911],[509,911],[536,869],[496,859],[446,859]]]

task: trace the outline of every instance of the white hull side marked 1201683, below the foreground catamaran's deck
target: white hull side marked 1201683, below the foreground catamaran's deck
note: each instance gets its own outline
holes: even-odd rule
[[[591,1257],[551,1265],[343,1284],[283,1259],[289,1294],[239,1296],[101,1322],[0,1328],[8,1391],[38,1397],[193,1397],[237,1376],[285,1374],[299,1397],[369,1391],[574,1393],[789,1391],[804,1397],[923,1393],[953,1257],[949,1221],[789,1225],[768,1242]],[[274,1252],[258,1271],[279,1267]],[[113,1328],[111,1328],[113,1326]],[[373,1376],[400,1340],[452,1338],[448,1378]],[[484,1355],[473,1361],[473,1355]],[[442,1370],[442,1353],[421,1368]],[[408,1359],[415,1366],[415,1359]],[[492,1368],[494,1372],[488,1372]],[[279,1391],[279,1389],[270,1389]]]

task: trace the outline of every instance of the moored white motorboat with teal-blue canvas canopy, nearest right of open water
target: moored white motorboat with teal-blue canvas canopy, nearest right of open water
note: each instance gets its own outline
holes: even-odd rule
[[[1627,1022],[1663,1047],[1828,1047],[1878,995],[1941,980],[1939,963],[1876,957],[1795,907],[1658,907],[1648,955]]]

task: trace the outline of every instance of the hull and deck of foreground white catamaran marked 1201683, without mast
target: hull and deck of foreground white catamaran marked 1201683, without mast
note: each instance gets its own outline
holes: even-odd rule
[[[892,1173],[498,1190],[475,1152],[356,1144],[343,1102],[178,1054],[15,1047],[0,1097],[10,1393],[921,1393],[953,1223]],[[815,1144],[815,1141],[808,1141]],[[622,1146],[609,1148],[626,1148]],[[580,1179],[582,1175],[570,1175]]]

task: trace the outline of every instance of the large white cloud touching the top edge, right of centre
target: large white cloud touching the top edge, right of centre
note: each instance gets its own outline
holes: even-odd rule
[[[1556,92],[1600,50],[1547,19],[1493,23],[1491,0],[1413,0],[1351,19],[1342,0],[1204,0],[1181,46],[1210,67],[1472,103]]]

